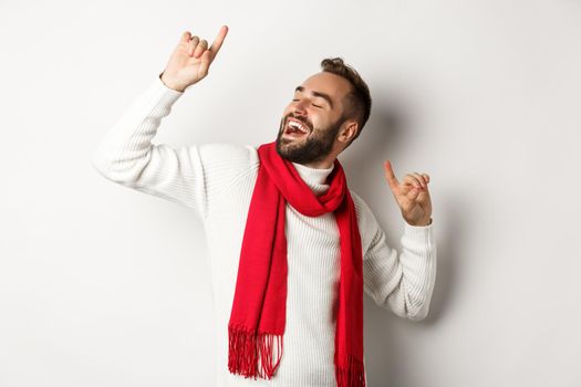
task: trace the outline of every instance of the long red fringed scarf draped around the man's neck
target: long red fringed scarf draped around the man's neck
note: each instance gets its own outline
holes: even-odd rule
[[[317,197],[294,166],[280,157],[276,143],[260,145],[258,156],[258,179],[246,221],[228,324],[228,369],[246,378],[256,379],[258,375],[270,379],[279,366],[287,311],[284,210],[289,202],[308,217],[335,213],[341,237],[335,378],[339,387],[363,387],[362,248],[343,167],[335,159],[328,177],[329,190]]]

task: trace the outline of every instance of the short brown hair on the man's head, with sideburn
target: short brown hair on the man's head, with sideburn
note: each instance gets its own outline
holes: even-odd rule
[[[345,118],[355,117],[357,121],[357,133],[355,137],[347,143],[345,148],[353,143],[355,138],[359,137],[363,126],[370,118],[371,114],[371,94],[367,84],[361,79],[360,74],[343,62],[341,57],[326,57],[321,61],[321,69],[323,72],[333,73],[335,75],[342,76],[351,83],[351,92],[345,96],[343,105],[345,106],[345,112],[343,116]]]

